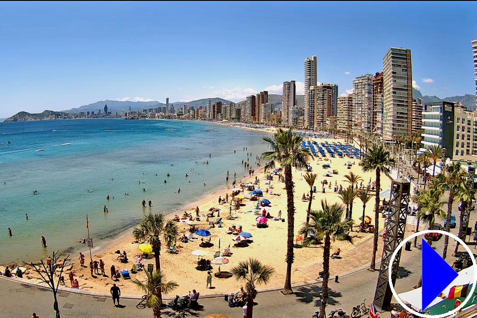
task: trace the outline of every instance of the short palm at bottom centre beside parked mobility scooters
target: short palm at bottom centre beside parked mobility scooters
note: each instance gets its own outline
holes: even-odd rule
[[[262,264],[257,259],[249,258],[245,262],[239,262],[239,265],[233,267],[230,272],[237,281],[245,282],[247,318],[252,318],[254,299],[257,297],[255,286],[266,284],[275,273],[275,269],[270,265]]]

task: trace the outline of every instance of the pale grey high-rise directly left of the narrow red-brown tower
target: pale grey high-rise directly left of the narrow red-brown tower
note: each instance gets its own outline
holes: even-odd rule
[[[373,75],[353,80],[353,119],[357,130],[373,132]]]

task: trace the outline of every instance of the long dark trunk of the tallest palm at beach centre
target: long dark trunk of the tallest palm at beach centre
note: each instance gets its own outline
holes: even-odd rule
[[[295,230],[295,203],[293,201],[293,180],[292,167],[285,166],[285,189],[287,190],[287,217],[288,217],[288,231],[287,231],[287,274],[285,277],[285,286],[283,287],[283,294],[289,295],[292,290],[292,263],[293,263],[293,235]]]

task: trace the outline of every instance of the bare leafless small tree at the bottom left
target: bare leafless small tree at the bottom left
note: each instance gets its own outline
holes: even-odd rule
[[[66,256],[63,259],[63,263],[58,264],[58,260],[60,259],[61,254],[59,252],[53,252],[53,257],[51,257],[51,262],[48,262],[45,264],[43,259],[40,260],[40,264],[33,264],[33,262],[30,263],[25,263],[26,265],[32,266],[35,271],[40,274],[41,280],[45,282],[48,287],[53,291],[53,297],[55,298],[55,302],[53,303],[53,309],[56,311],[56,318],[61,318],[60,316],[60,307],[58,306],[58,298],[57,298],[57,293],[58,293],[58,286],[60,284],[60,281],[62,280],[61,277],[63,275],[63,269],[65,268],[66,262],[71,261],[69,258],[70,256]],[[57,276],[56,275],[56,270],[60,269],[60,273]],[[55,277],[56,282],[55,282]]]

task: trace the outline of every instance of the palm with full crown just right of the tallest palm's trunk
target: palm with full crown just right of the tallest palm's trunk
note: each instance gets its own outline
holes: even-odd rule
[[[303,239],[303,246],[305,247],[313,245],[316,238],[324,240],[320,318],[324,318],[325,308],[328,302],[329,252],[331,241],[346,241],[353,244],[353,239],[349,236],[348,232],[353,225],[353,221],[350,218],[342,220],[343,213],[343,204],[334,203],[328,205],[326,200],[321,200],[321,210],[310,211],[310,223],[305,223],[299,232],[305,237]],[[313,233],[313,236],[309,236],[311,233]]]

